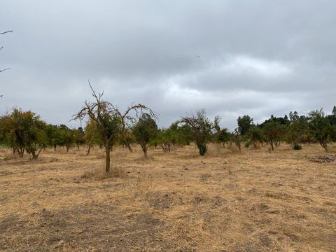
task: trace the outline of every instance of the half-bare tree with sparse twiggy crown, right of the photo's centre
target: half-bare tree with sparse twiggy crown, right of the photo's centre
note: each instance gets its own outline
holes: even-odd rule
[[[214,124],[207,118],[204,109],[196,111],[191,115],[187,115],[181,119],[181,123],[189,125],[193,132],[193,140],[195,141],[200,155],[207,153],[207,144],[211,140]]]

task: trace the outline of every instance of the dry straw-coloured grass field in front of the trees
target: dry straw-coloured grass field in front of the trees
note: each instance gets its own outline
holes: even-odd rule
[[[267,149],[1,149],[0,251],[336,251],[336,163]]]

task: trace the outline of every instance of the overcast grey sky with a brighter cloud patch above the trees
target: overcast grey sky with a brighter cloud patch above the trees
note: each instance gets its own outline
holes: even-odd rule
[[[234,128],[248,114],[336,104],[333,0],[1,0],[0,113],[13,106],[69,122],[90,100],[87,79],[159,125],[195,109]]]

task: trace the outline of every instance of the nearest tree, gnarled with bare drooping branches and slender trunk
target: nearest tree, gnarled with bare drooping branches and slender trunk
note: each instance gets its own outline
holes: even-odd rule
[[[134,112],[136,117],[139,117],[139,113],[142,114],[143,111],[148,111],[148,113],[154,117],[156,117],[157,114],[143,104],[132,104],[127,108],[125,113],[121,113],[118,107],[103,99],[104,92],[96,93],[94,91],[92,85],[90,84],[90,80],[89,85],[95,101],[85,101],[83,108],[73,116],[73,120],[84,120],[85,118],[90,118],[90,120],[97,125],[106,153],[105,172],[109,173],[111,166],[111,148],[116,143],[116,139],[120,137],[120,135],[125,134],[125,131],[130,126],[130,123],[134,122],[134,118],[130,115],[130,113]]]

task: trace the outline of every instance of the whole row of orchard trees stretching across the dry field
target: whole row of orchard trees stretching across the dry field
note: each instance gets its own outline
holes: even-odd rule
[[[90,85],[91,87],[91,85]],[[91,87],[92,88],[92,87]],[[87,155],[94,146],[105,149],[106,172],[110,172],[110,152],[113,146],[123,145],[132,152],[132,144],[141,146],[145,157],[148,146],[162,148],[169,153],[176,146],[195,142],[200,155],[207,153],[210,142],[235,145],[239,150],[246,147],[269,144],[271,150],[282,142],[294,149],[302,143],[318,142],[328,151],[328,143],[336,141],[336,106],[331,115],[323,110],[311,111],[307,116],[290,112],[288,116],[271,116],[260,125],[255,125],[250,116],[237,119],[237,129],[230,132],[220,127],[221,118],[210,120],[204,110],[196,111],[176,121],[166,129],[158,129],[157,114],[143,104],[132,104],[125,112],[104,100],[103,94],[92,89],[94,102],[85,102],[73,120],[85,120],[86,127],[70,129],[66,125],[48,125],[31,111],[13,109],[0,117],[0,144],[9,146],[13,153],[22,156],[29,153],[38,158],[43,148],[64,146],[66,151],[73,146],[86,145]]]

